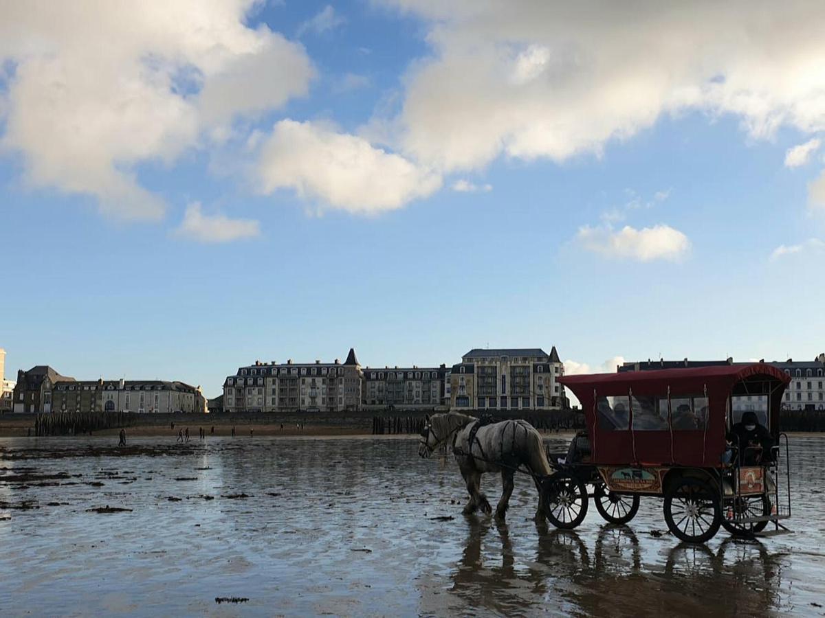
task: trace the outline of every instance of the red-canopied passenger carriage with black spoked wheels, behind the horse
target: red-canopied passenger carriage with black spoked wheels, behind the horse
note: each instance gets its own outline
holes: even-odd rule
[[[641,496],[662,497],[682,541],[705,542],[719,527],[752,535],[790,517],[788,439],[779,433],[790,377],[764,363],[566,376],[587,431],[568,452],[551,453],[544,480],[548,518],[577,527],[588,499],[608,522],[629,522]],[[747,415],[771,435],[742,443]],[[781,486],[784,485],[784,486]],[[588,489],[592,488],[592,489]]]

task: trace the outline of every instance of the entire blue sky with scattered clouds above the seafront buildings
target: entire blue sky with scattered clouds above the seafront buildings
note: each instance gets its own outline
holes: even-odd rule
[[[821,2],[0,0],[7,377],[825,351]]]

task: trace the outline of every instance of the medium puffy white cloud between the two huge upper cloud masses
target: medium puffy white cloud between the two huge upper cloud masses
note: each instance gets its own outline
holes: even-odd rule
[[[361,214],[400,208],[441,187],[441,176],[364,138],[294,120],[276,123],[257,174],[265,193],[290,188],[301,198]]]

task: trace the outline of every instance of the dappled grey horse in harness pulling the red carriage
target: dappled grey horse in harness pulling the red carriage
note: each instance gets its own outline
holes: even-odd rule
[[[427,424],[421,433],[418,455],[429,457],[442,444],[452,444],[455,460],[467,485],[469,501],[464,506],[465,515],[477,509],[484,513],[493,511],[487,497],[481,493],[481,475],[499,472],[503,491],[496,507],[496,517],[503,519],[513,492],[513,475],[516,468],[523,466],[533,475],[539,491],[535,521],[544,522],[544,499],[537,477],[550,476],[554,472],[544,453],[544,441],[531,424],[524,420],[480,424],[479,419],[467,414],[433,414],[427,417]]]

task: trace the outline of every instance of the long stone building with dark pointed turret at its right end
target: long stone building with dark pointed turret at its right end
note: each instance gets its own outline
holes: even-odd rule
[[[354,349],[342,364],[261,363],[238,368],[224,381],[227,412],[338,412],[361,404],[363,374]]]

